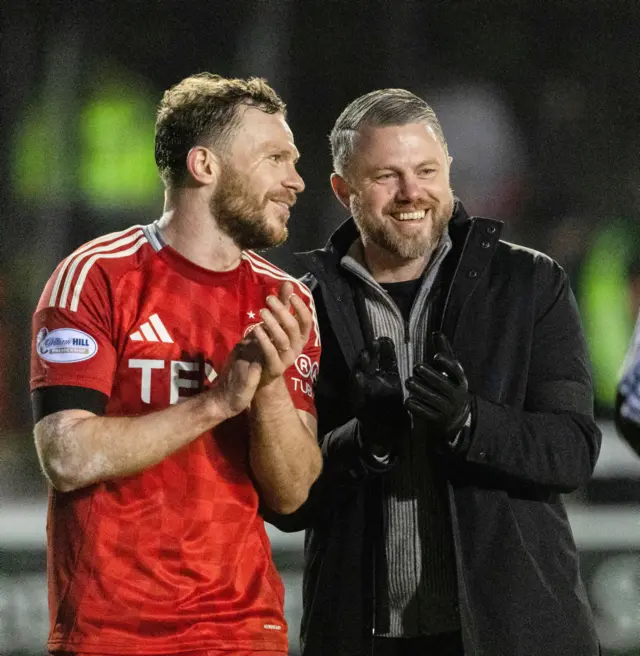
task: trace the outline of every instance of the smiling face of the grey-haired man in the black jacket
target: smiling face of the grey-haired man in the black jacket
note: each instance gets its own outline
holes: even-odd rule
[[[365,254],[399,263],[429,255],[453,212],[450,159],[424,123],[363,126],[345,177],[332,185],[358,225]]]

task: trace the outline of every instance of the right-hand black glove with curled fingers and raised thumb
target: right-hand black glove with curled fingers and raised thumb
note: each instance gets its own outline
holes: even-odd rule
[[[462,365],[443,333],[435,333],[436,354],[421,362],[407,380],[405,407],[426,422],[429,433],[453,444],[471,412],[471,395]]]

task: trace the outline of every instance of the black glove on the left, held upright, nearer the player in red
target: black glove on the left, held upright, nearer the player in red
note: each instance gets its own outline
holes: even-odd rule
[[[411,426],[404,407],[402,381],[393,342],[373,340],[358,354],[353,368],[353,398],[360,439],[370,453],[388,454],[398,435]]]

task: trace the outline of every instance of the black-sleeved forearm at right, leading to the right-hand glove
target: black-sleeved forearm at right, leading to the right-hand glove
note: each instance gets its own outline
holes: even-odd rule
[[[577,412],[525,412],[477,399],[465,460],[524,485],[572,491],[590,479],[601,434]]]

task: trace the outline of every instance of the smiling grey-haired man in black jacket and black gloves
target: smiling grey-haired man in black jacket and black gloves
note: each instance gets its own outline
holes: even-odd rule
[[[561,494],[601,435],[575,300],[449,183],[431,108],[375,91],[331,133],[353,218],[302,255],[323,340],[324,469],[306,529],[305,656],[594,656]]]

